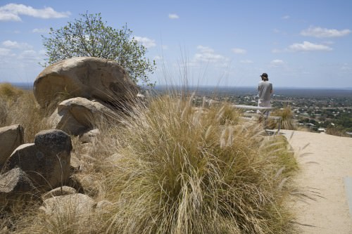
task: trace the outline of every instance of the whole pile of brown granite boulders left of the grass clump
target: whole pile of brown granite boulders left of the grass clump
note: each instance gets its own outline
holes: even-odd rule
[[[111,204],[94,203],[73,181],[80,162],[71,160],[71,136],[92,141],[99,135],[96,122],[116,120],[144,98],[138,86],[113,60],[79,57],[46,67],[33,90],[39,106],[52,110],[47,119],[51,128],[37,133],[33,143],[24,142],[20,124],[0,128],[0,206],[37,200],[50,215],[65,204],[80,213]]]

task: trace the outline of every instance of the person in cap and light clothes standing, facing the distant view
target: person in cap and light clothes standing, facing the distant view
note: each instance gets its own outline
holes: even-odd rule
[[[272,94],[272,84],[269,82],[268,74],[263,73],[260,75],[262,81],[258,84],[258,107],[271,108],[271,94]],[[257,111],[258,114],[264,114],[265,112]],[[268,117],[269,112],[266,112]]]

